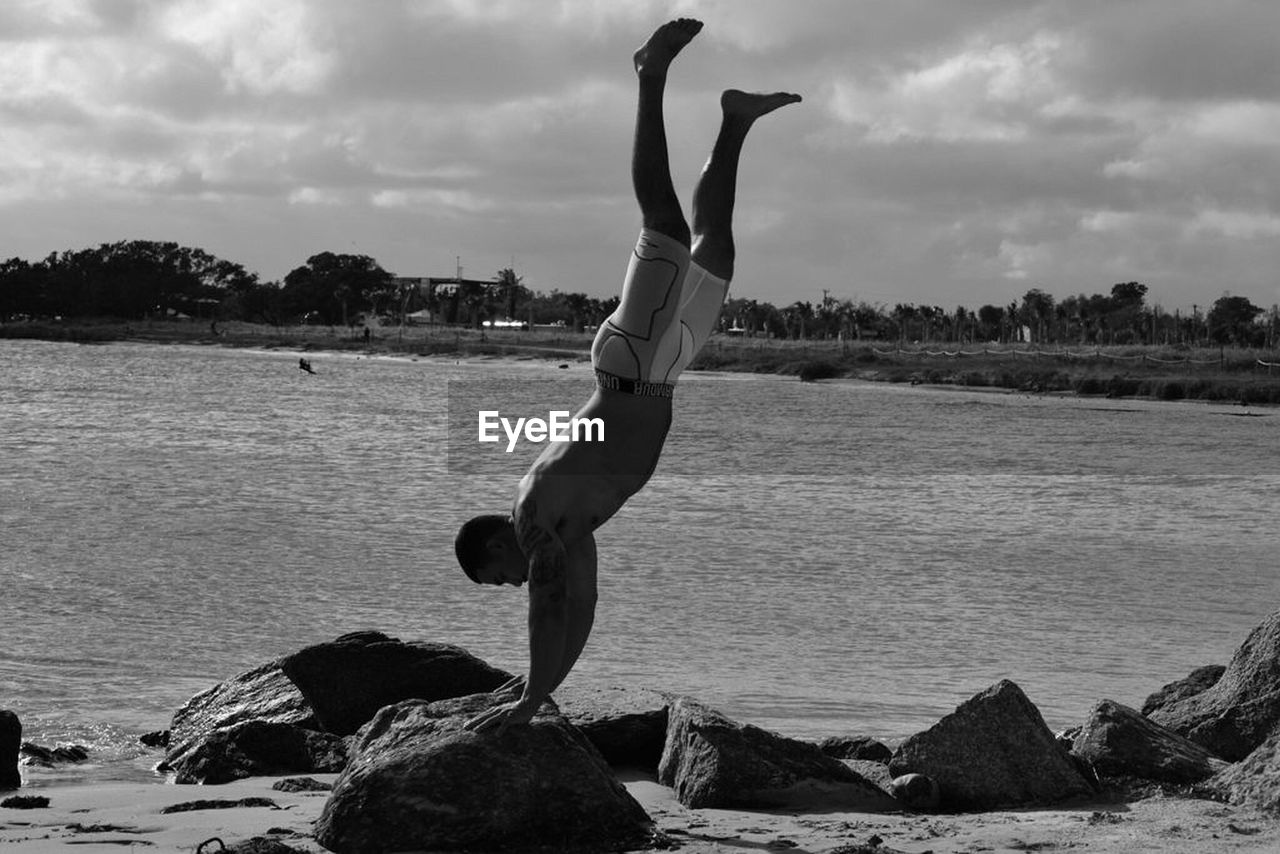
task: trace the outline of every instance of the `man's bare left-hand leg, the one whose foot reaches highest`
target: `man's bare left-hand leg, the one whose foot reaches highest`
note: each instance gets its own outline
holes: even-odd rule
[[[635,146],[631,151],[631,184],[640,204],[644,227],[673,238],[686,248],[689,223],[685,222],[680,197],[671,183],[662,100],[671,60],[701,28],[701,22],[691,18],[664,23],[634,56],[640,97],[636,106]]]

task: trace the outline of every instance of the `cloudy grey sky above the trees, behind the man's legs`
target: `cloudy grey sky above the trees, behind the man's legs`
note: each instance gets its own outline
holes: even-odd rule
[[[631,52],[675,15],[707,24],[668,85],[686,200],[722,88],[805,96],[748,141],[736,296],[1280,302],[1272,0],[4,0],[0,257],[461,257],[609,296]]]

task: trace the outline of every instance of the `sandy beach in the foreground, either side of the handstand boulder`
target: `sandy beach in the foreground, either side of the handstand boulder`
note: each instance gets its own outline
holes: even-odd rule
[[[311,778],[333,782],[335,775]],[[5,796],[45,796],[42,809],[0,808],[0,849],[13,851],[195,851],[220,839],[227,848],[268,837],[301,851],[324,851],[311,825],[326,793],[273,789],[282,777],[225,786],[73,784],[27,787]],[[1130,804],[1085,803],[1050,809],[975,814],[748,812],[687,809],[650,778],[623,780],[658,830],[690,854],[879,850],[960,851],[1276,851],[1280,821],[1208,800],[1155,796]],[[164,812],[192,802],[268,799],[275,805],[206,807]],[[252,802],[251,802],[252,803]],[[218,851],[216,842],[206,845]]]

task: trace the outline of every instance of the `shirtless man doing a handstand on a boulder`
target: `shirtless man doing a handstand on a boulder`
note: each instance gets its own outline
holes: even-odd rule
[[[517,700],[468,721],[472,730],[527,722],[586,645],[596,599],[593,531],[658,465],[676,378],[714,329],[733,275],[730,227],[742,141],[755,119],[800,100],[736,90],[721,96],[719,136],[694,189],[690,234],[671,182],[662,100],[671,60],[701,27],[672,20],[635,52],[640,99],[631,181],[643,229],[622,301],[591,344],[596,391],[577,412],[604,421],[604,440],[548,444],[520,481],[511,516],[477,516],[454,543],[472,581],[529,581],[529,676],[509,684],[522,684]]]

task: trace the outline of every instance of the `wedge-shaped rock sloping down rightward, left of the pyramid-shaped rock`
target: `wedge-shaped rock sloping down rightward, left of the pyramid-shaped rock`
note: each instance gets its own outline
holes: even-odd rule
[[[689,698],[669,707],[658,781],[691,808],[838,805],[876,810],[893,803],[818,745],[737,723]]]

